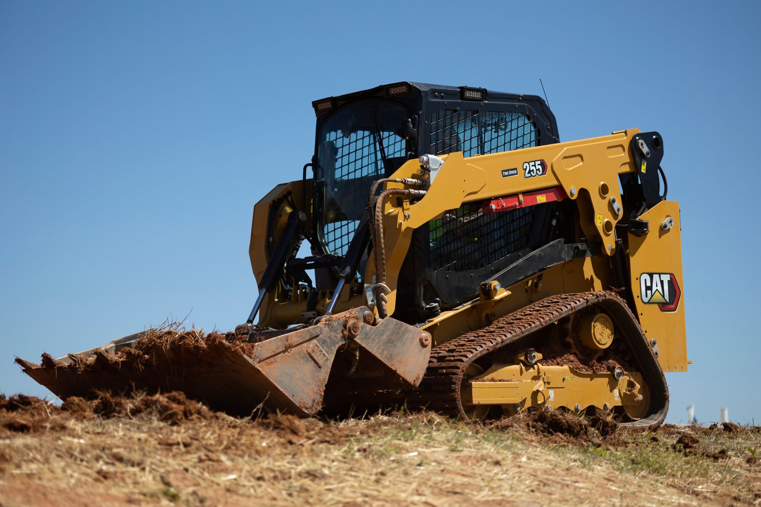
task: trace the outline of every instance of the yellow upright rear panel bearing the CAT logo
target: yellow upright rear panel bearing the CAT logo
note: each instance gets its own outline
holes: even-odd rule
[[[661,223],[668,218],[673,227],[664,230]],[[650,229],[641,237],[629,233],[629,275],[639,320],[648,340],[658,341],[664,372],[686,372],[679,203],[661,201],[639,220],[648,220]]]

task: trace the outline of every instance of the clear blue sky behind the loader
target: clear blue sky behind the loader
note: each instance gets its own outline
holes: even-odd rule
[[[380,11],[383,8],[383,11]],[[532,11],[531,9],[537,9]],[[169,315],[228,330],[253,204],[310,102],[394,81],[541,93],[569,141],[664,137],[689,373],[668,420],[761,420],[757,2],[0,2],[0,391]]]

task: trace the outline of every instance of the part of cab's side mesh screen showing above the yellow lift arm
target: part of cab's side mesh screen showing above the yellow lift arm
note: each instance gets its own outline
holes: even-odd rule
[[[462,151],[465,157],[537,146],[540,132],[522,112],[441,109],[431,114],[431,154]]]

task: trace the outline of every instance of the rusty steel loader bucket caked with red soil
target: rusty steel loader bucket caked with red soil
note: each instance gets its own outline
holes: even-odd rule
[[[16,362],[62,399],[93,398],[96,391],[183,391],[229,414],[264,407],[310,417],[323,405],[339,348],[370,353],[400,388],[419,385],[431,353],[430,334],[393,318],[377,319],[365,307],[295,331],[246,337],[148,331],[57,360],[43,354],[41,364]]]

